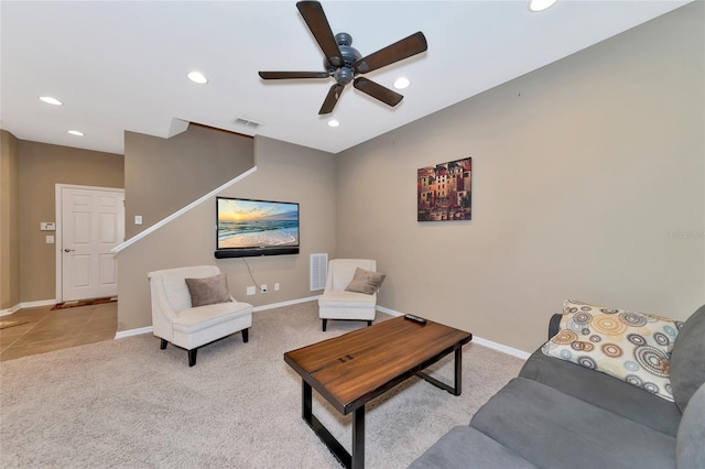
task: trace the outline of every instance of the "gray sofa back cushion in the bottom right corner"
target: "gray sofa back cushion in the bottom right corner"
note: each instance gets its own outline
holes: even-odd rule
[[[675,444],[675,466],[679,469],[705,468],[705,384],[693,394],[683,414]]]

